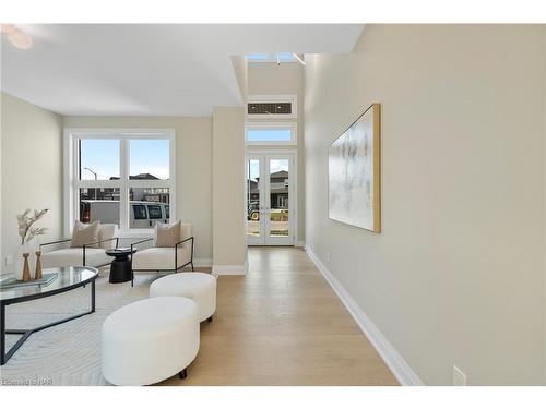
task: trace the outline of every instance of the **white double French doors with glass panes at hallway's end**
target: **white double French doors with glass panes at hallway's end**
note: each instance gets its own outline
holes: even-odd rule
[[[248,154],[247,243],[294,245],[294,154]]]

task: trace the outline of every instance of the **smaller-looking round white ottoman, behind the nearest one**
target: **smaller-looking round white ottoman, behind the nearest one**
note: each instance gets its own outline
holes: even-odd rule
[[[199,321],[212,321],[216,311],[216,277],[206,273],[177,273],[156,279],[150,297],[187,297],[199,305]]]

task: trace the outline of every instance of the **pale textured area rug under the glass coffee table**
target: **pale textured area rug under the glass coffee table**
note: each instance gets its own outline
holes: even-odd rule
[[[100,327],[117,309],[149,296],[158,276],[136,275],[131,282],[109,284],[108,274],[96,280],[96,311],[31,335],[3,366],[1,385],[107,385],[100,373]],[[88,311],[91,286],[41,300],[8,305],[7,328],[27,329]],[[8,349],[19,336],[7,335]],[[8,350],[7,349],[7,350]]]

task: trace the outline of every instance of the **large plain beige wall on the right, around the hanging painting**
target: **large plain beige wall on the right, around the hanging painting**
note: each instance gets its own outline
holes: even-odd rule
[[[355,52],[307,56],[308,245],[424,383],[543,383],[543,27],[367,25]],[[328,218],[327,148],[372,103],[380,234]]]

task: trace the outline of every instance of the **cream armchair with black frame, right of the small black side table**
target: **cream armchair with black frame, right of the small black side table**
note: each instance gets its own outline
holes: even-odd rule
[[[158,248],[154,237],[131,244],[131,252],[136,245],[153,242],[152,248],[139,250],[132,255],[132,270],[134,272],[173,272],[176,273],[187,265],[193,272],[193,226],[188,222],[180,224],[180,241],[171,248]]]

